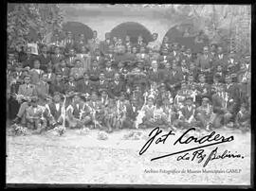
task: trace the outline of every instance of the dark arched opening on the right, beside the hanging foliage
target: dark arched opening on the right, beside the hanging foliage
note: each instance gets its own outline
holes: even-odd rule
[[[201,35],[202,42],[196,41],[196,37]],[[179,43],[187,48],[192,48],[192,52],[200,52],[204,45],[209,44],[209,38],[204,35],[203,31],[194,28],[192,24],[181,24],[174,26],[165,34],[171,43]]]

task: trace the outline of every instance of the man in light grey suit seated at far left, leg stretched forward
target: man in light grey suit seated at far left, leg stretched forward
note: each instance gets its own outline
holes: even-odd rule
[[[28,107],[27,101],[31,99],[32,96],[36,96],[35,85],[30,83],[30,76],[24,77],[24,84],[19,86],[18,96],[16,100],[20,103],[19,112],[16,114],[16,118],[12,121],[13,123],[19,123],[20,120],[25,116],[25,112]]]

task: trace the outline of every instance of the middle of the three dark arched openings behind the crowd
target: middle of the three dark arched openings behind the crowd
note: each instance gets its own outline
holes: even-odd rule
[[[137,36],[142,35],[145,43],[153,41],[151,32],[145,27],[136,22],[122,23],[114,27],[110,32],[110,37],[118,37],[124,39],[126,35],[131,37],[131,42],[137,42]]]

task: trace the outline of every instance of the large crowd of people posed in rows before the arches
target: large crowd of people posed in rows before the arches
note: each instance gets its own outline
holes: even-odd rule
[[[194,52],[163,42],[105,35],[9,52],[7,108],[12,124],[30,130],[155,127],[250,128],[250,54],[217,43]]]

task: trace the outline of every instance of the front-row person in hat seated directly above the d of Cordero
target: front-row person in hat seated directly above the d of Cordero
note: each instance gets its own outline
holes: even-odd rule
[[[208,97],[202,98],[202,104],[195,111],[195,118],[200,122],[200,126],[210,130],[214,119],[214,113],[212,113],[212,106]]]

